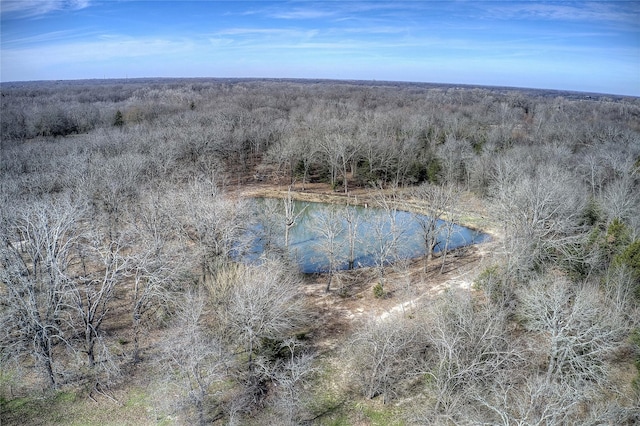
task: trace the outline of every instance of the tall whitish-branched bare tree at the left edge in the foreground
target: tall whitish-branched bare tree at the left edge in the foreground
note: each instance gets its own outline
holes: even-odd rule
[[[65,294],[77,261],[82,209],[68,198],[16,207],[2,233],[3,346],[17,357],[32,356],[50,387],[58,384],[56,346],[65,334]]]

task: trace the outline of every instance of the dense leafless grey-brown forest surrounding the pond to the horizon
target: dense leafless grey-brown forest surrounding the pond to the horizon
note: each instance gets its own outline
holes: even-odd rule
[[[181,79],[1,101],[3,425],[640,422],[640,99]],[[267,191],[282,235],[315,194],[492,240],[435,253],[430,222],[424,258],[379,268],[240,262]]]

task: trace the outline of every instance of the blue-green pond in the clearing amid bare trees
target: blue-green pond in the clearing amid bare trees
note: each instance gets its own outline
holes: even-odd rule
[[[389,264],[423,256],[424,229],[431,222],[437,235],[435,253],[489,239],[473,229],[401,210],[293,201],[287,215],[285,205],[282,199],[253,200],[256,222],[246,260],[280,250],[304,273]],[[295,219],[288,230],[287,216]]]

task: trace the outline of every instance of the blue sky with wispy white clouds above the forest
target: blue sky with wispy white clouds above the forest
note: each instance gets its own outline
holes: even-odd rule
[[[0,80],[397,80],[640,96],[640,1],[0,0]]]

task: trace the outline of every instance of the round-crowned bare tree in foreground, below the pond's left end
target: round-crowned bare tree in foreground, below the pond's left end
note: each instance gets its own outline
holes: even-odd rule
[[[230,413],[250,412],[264,402],[268,385],[275,380],[265,372],[279,368],[277,348],[294,341],[306,322],[299,277],[275,261],[253,266],[229,264],[218,270],[207,290],[209,330],[233,348],[238,360],[231,378],[238,385],[234,400],[241,406],[231,404]]]

